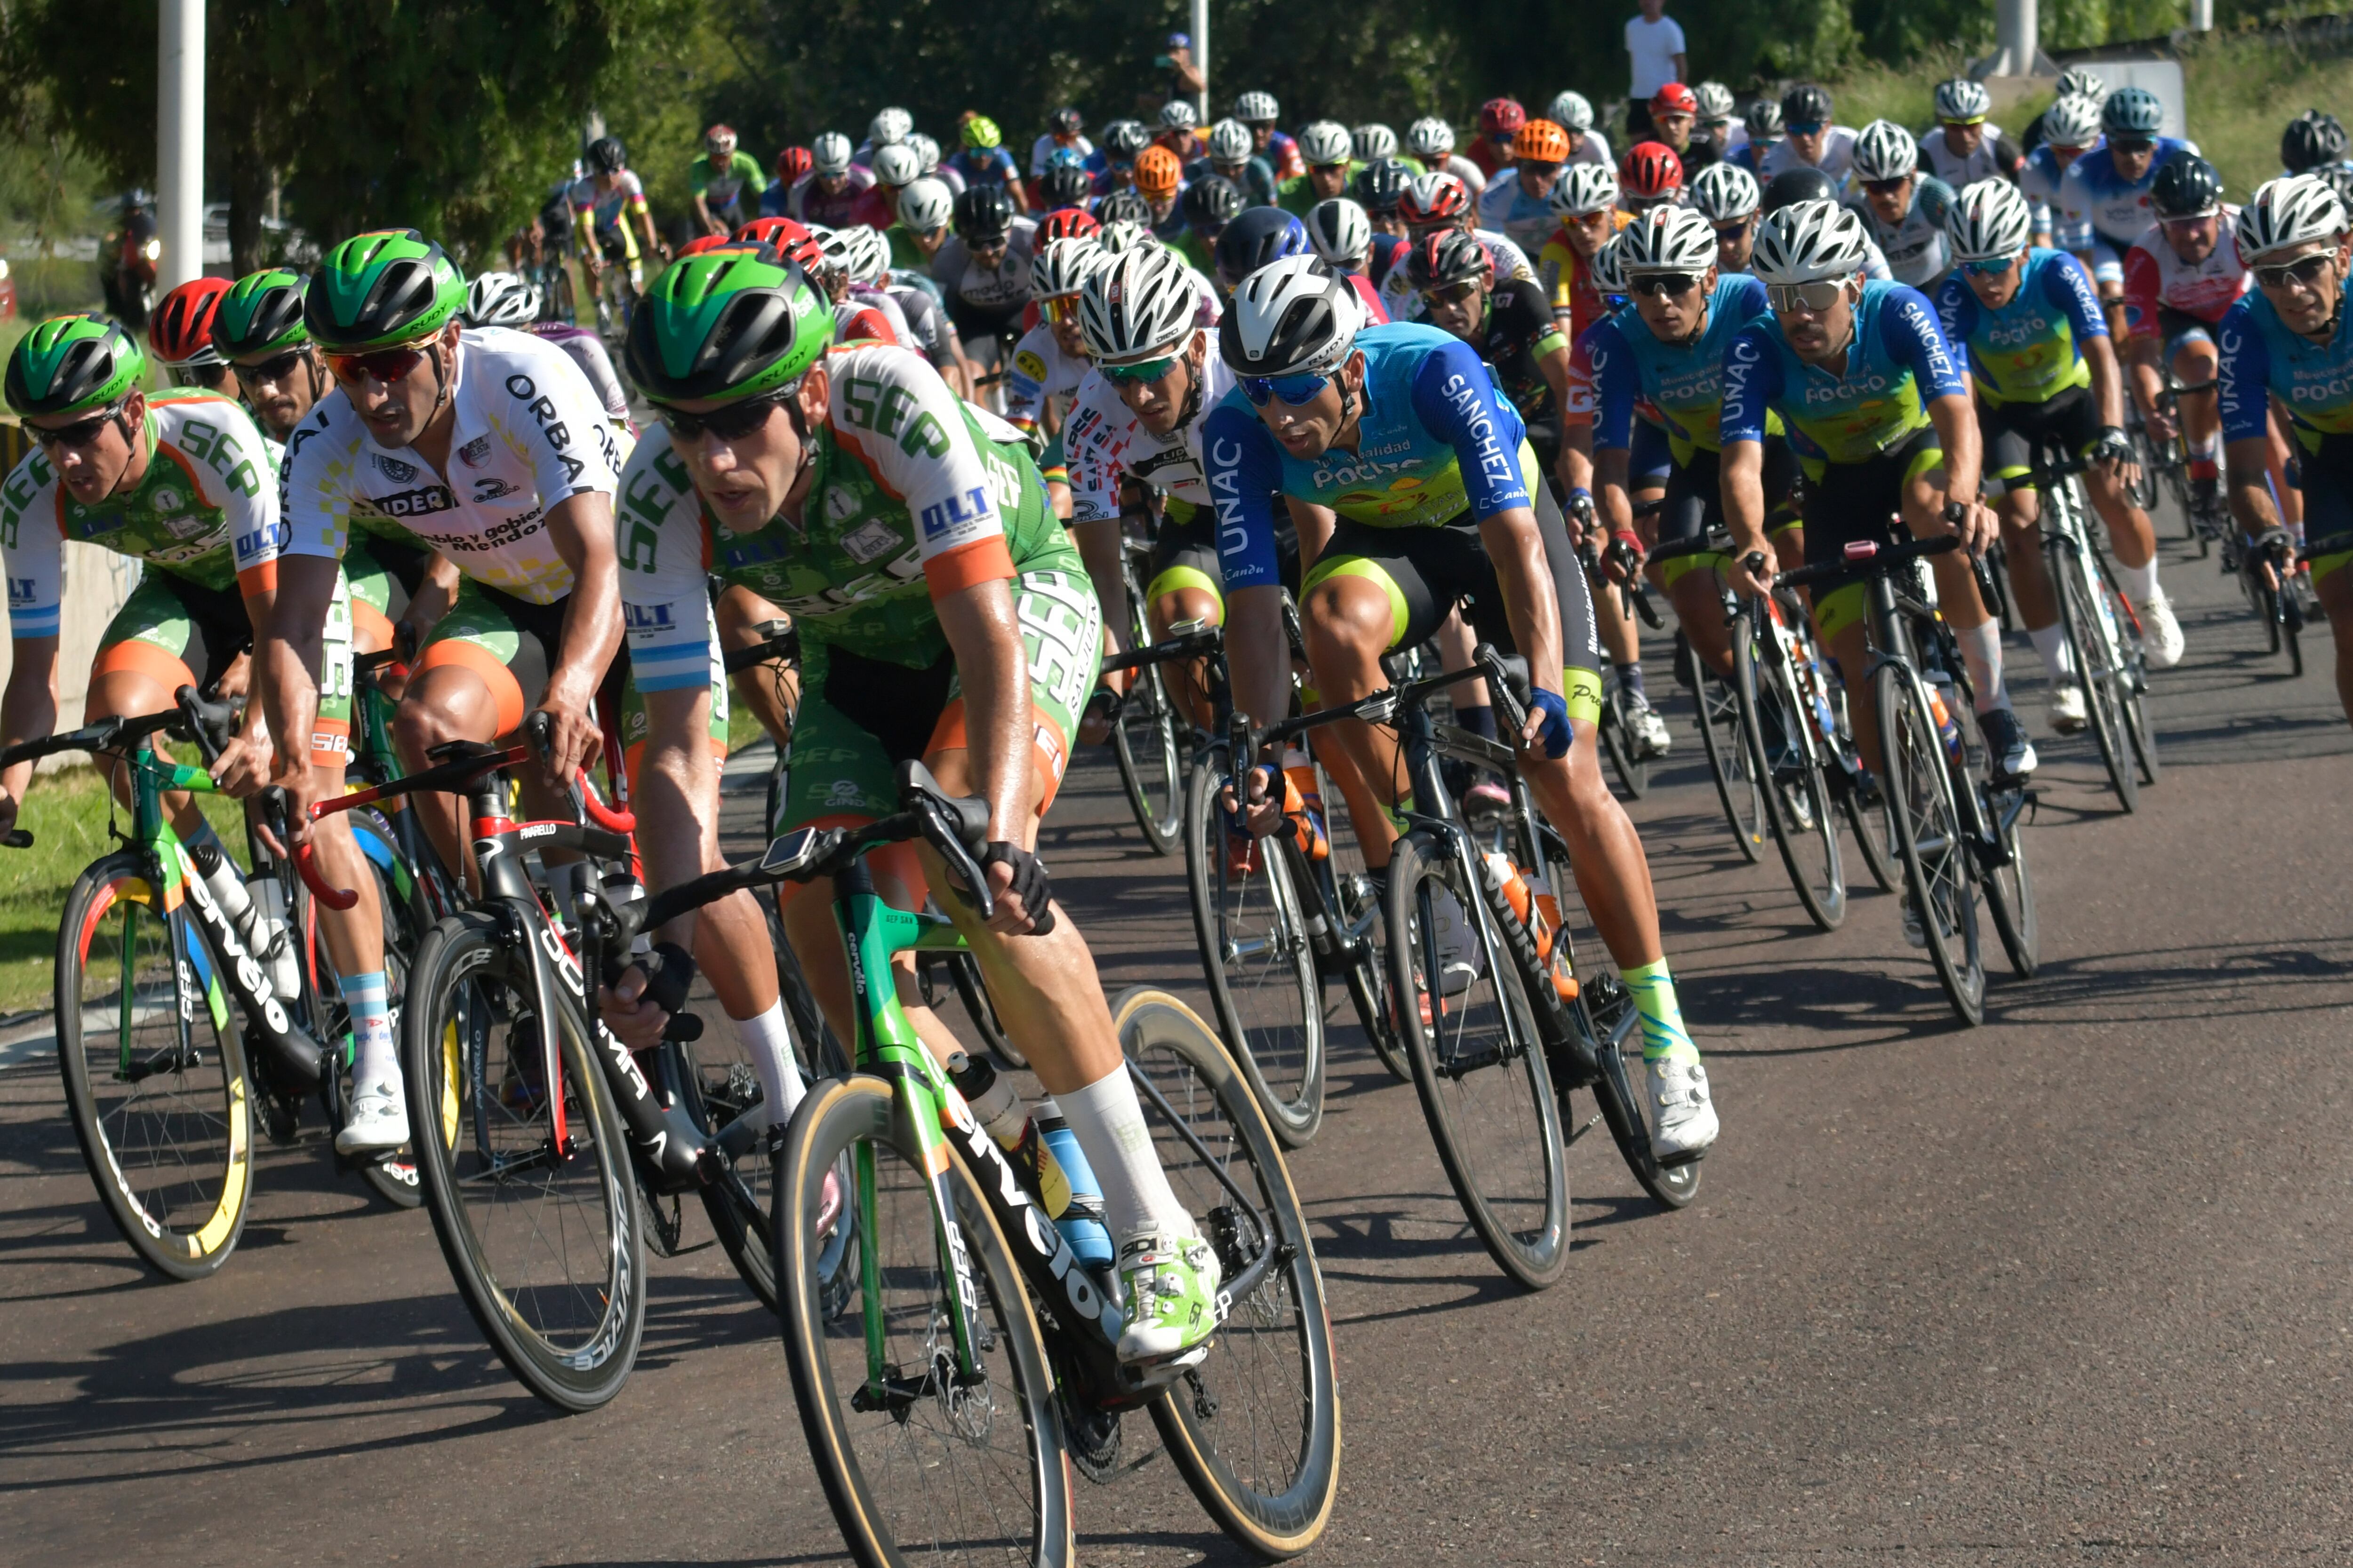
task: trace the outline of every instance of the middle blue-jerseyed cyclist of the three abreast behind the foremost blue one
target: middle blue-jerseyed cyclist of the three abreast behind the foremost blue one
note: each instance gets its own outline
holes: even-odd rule
[[[1977,498],[1979,435],[1962,369],[1915,289],[1866,282],[1864,223],[1835,202],[1798,202],[1765,219],[1753,256],[1772,313],[1725,350],[1722,475],[1732,524],[1732,585],[1765,592],[1779,571],[1765,534],[1765,416],[1779,414],[1805,470],[1805,559],[1833,562],[1854,541],[1880,541],[1889,517],[1918,538],[1960,534],[1977,552],[1993,515]],[[1762,555],[1753,571],[1751,555]],[[1993,773],[2021,778],[2035,748],[2002,686],[2002,628],[1977,597],[1962,555],[1932,557],[1937,599],[1953,625]],[[1868,597],[1847,583],[1814,597],[1814,625],[1847,684],[1854,738],[1880,757],[1866,642]],[[1904,907],[1904,940],[1922,947]]]

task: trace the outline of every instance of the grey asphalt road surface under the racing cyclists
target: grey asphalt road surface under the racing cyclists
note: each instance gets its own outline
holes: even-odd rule
[[[1680,750],[1633,806],[1725,1138],[1657,1213],[1572,1152],[1577,1255],[1511,1288],[1409,1088],[1339,1037],[1292,1159],[1341,1354],[1320,1563],[2273,1563],[2353,1552],[2353,731],[2214,569],[2167,581],[2167,773],[2087,741],[2028,832],[2045,969],[1958,1030],[1894,900],[1814,933]],[[2040,675],[2012,658],[2038,736]],[[1666,686],[1664,670],[1657,686]],[[1049,827],[1106,987],[1198,994],[1181,870],[1087,755]],[[0,1561],[831,1563],[769,1324],[715,1248],[558,1418],[485,1352],[421,1213],[268,1152],[228,1269],[144,1279],[49,1065],[0,1072]],[[701,1234],[701,1220],[692,1222]],[[1132,1425],[1129,1450],[1151,1443]],[[1087,1563],[1242,1561],[1165,1458],[1080,1490]]]

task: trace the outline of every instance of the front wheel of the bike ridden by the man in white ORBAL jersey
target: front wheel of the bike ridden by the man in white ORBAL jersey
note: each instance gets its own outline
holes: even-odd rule
[[[508,1371],[539,1399],[558,1410],[593,1410],[628,1380],[645,1335],[645,1232],[638,1218],[638,1180],[621,1114],[605,1088],[600,1065],[584,1037],[586,1020],[558,1001],[558,1072],[572,1152],[562,1157],[548,1182],[569,1185],[560,1222],[534,1215],[522,1229],[546,1258],[504,1258],[499,1215],[478,1222],[471,1199],[492,1201],[511,1185],[511,1171],[534,1171],[548,1159],[553,1117],[539,1060],[539,1032],[529,1020],[534,999],[529,954],[513,952],[499,933],[499,917],[485,910],[452,914],[426,933],[409,971],[409,1006],[400,1020],[402,1072],[409,1084],[409,1140],[419,1152],[416,1175],[440,1237],[449,1276],[473,1321]],[[496,1051],[492,1032],[504,1013],[506,1041]],[[496,1074],[496,1077],[494,1077]],[[452,1117],[454,1103],[454,1117]],[[431,1119],[428,1119],[431,1117]],[[454,1140],[440,1128],[459,1126]],[[494,1119],[499,1126],[494,1128]],[[541,1126],[544,1124],[544,1126]],[[492,1135],[513,1133],[504,1150],[485,1145]],[[548,1168],[548,1166],[541,1166]],[[591,1215],[602,1208],[602,1222]],[[558,1248],[584,1234],[576,1248]],[[492,1251],[499,1258],[492,1258]],[[532,1265],[562,1269],[572,1255],[593,1258],[595,1276],[558,1279],[544,1286]]]

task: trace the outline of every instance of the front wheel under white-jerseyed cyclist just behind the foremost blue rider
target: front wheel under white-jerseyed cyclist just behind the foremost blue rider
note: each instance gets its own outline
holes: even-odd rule
[[[1322,980],[1280,846],[1261,839],[1252,867],[1233,872],[1226,813],[1217,802],[1224,788],[1226,748],[1219,745],[1195,762],[1186,780],[1184,867],[1193,938],[1226,1046],[1275,1138],[1297,1150],[1322,1126]],[[1245,943],[1257,950],[1242,952]],[[1264,964],[1254,961],[1261,957]]]

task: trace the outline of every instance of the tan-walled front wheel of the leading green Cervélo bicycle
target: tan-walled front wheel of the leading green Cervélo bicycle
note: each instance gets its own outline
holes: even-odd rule
[[[962,1157],[948,1152],[955,1237],[939,1234],[922,1152],[894,1133],[889,1079],[809,1091],[774,1157],[784,1356],[833,1519],[866,1568],[1038,1563],[1078,1554],[1054,1373],[1021,1274]],[[828,1171],[852,1192],[826,1229]],[[854,1227],[854,1272],[828,1265]],[[962,1246],[955,1248],[960,1237]],[[960,1251],[960,1281],[941,1260]],[[828,1281],[840,1267],[847,1291]],[[976,1382],[955,1380],[951,1314],[976,1288]],[[871,1378],[868,1345],[882,1363]]]

